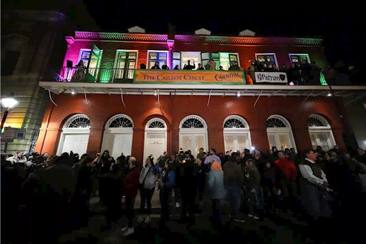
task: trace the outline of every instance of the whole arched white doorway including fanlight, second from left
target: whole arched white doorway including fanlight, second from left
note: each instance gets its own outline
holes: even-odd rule
[[[122,153],[131,155],[134,123],[126,114],[117,114],[108,119],[104,127],[102,150],[118,158]]]

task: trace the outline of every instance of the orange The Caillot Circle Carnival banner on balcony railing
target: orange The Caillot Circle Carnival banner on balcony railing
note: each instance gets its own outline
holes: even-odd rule
[[[135,70],[134,83],[245,84],[243,71]]]

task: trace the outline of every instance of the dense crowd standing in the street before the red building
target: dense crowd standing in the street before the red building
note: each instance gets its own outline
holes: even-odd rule
[[[152,196],[159,191],[161,223],[169,221],[172,208],[181,207],[181,221],[194,229],[194,215],[210,207],[212,226],[218,229],[224,212],[235,222],[246,222],[247,216],[261,220],[288,214],[320,228],[315,230],[320,234],[329,220],[347,222],[356,214],[364,215],[365,152],[359,148],[357,155],[340,153],[337,146],[328,152],[318,146],[301,154],[294,148],[225,154],[201,148],[195,156],[181,149],[177,154],[164,152],[156,161],[150,155],[143,163],[123,154],[114,159],[108,151],[95,158],[72,152],[1,154],[1,209],[9,210],[1,229],[22,232],[18,238],[25,243],[40,243],[45,233],[56,238],[70,228],[87,225],[89,199],[99,195],[107,207],[106,229],[118,225],[121,199],[125,199],[128,223],[122,232],[127,236],[134,233],[138,192],[138,222],[149,223]],[[347,228],[353,225],[347,222]]]

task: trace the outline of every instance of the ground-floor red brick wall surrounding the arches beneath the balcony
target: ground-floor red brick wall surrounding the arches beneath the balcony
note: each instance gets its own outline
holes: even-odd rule
[[[87,115],[91,121],[88,152],[100,151],[104,126],[109,118],[116,114],[130,116],[134,122],[132,154],[139,159],[143,156],[144,128],[149,119],[160,117],[167,122],[168,151],[173,152],[179,149],[179,123],[184,117],[192,114],[205,119],[208,124],[209,147],[216,148],[218,152],[224,151],[222,126],[224,119],[229,115],[240,115],[246,119],[250,127],[252,145],[263,151],[269,147],[265,121],[273,114],[282,115],[290,122],[298,150],[311,148],[306,125],[310,114],[321,114],[327,118],[336,143],[341,149],[346,147],[342,138],[344,128],[339,113],[329,97],[309,97],[303,104],[304,97],[260,97],[254,108],[257,97],[249,96],[212,96],[208,108],[206,96],[160,96],[160,107],[156,96],[125,96],[126,107],[123,107],[119,95],[88,95],[87,98],[88,102],[83,95],[64,94],[55,98],[57,107],[52,109],[51,103],[48,104],[36,151],[55,154],[64,121],[76,113]],[[45,130],[48,117],[49,123]]]

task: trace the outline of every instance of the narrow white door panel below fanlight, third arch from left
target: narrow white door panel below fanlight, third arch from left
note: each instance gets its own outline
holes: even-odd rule
[[[153,155],[154,161],[156,161],[160,155],[163,155],[165,151],[165,132],[163,133],[146,133],[145,146],[143,154],[143,162],[149,155]]]

